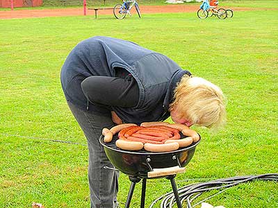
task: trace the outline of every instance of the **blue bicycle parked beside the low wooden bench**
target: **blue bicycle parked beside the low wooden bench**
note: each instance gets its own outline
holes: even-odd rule
[[[133,8],[133,6],[135,6],[136,12],[138,16],[141,18],[140,8],[136,0],[123,0],[122,4],[117,4],[113,8],[113,14],[117,19],[124,19],[124,17],[126,17],[126,14],[129,14],[129,16],[131,16],[131,9]]]

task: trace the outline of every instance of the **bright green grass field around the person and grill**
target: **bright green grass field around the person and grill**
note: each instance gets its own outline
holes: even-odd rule
[[[235,12],[225,20],[201,20],[195,13],[134,15],[122,21],[111,15],[0,19],[0,207],[31,207],[33,201],[47,208],[89,207],[86,142],[65,103],[60,68],[78,42],[94,35],[164,53],[226,94],[227,125],[217,134],[195,128],[202,142],[186,173],[177,175],[178,187],[277,173],[277,17],[277,10],[263,10]],[[120,175],[121,207],[129,185]],[[146,207],[168,191],[167,180],[149,180]],[[278,184],[242,184],[208,202],[275,208]],[[140,207],[140,184],[131,207]]]

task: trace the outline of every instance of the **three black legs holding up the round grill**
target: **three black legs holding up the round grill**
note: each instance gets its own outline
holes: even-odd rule
[[[177,207],[182,208],[181,200],[179,198],[179,192],[177,189],[177,184],[174,181],[174,177],[176,177],[176,175],[167,175],[166,179],[170,180],[170,182],[171,182],[172,189],[174,192],[174,198],[176,199],[176,202],[177,202]],[[131,181],[131,187],[129,188],[129,194],[127,195],[126,205],[124,206],[124,208],[129,208],[135,185],[136,185],[136,183],[140,182],[140,178],[129,176],[129,180]],[[142,192],[141,192],[140,208],[145,208],[146,184],[147,184],[147,178],[143,178],[142,179]]]

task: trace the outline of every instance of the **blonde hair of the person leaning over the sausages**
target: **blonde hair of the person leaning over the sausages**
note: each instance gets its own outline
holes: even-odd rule
[[[179,116],[186,116],[191,123],[208,128],[220,128],[226,121],[226,99],[222,90],[199,77],[183,76],[174,90],[175,108]]]

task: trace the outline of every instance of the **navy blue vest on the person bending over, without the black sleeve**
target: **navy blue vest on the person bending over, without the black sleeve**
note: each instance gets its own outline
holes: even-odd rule
[[[115,76],[115,67],[129,71],[139,88],[136,107],[116,107],[88,103],[81,82],[89,76]],[[67,56],[61,71],[61,83],[68,101],[81,110],[107,114],[114,110],[124,123],[162,121],[170,116],[174,88],[184,74],[177,63],[161,53],[133,42],[112,37],[91,37],[77,44]]]

